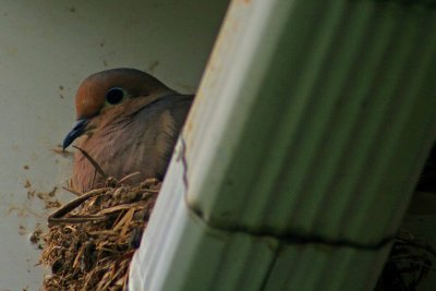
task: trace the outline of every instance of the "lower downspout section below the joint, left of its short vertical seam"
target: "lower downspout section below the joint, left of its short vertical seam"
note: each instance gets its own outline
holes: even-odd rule
[[[181,161],[174,163],[171,171],[181,173]],[[158,199],[133,258],[130,290],[258,290],[278,240],[208,228],[183,196],[171,195],[181,186],[181,180],[171,180],[162,189],[169,195]]]

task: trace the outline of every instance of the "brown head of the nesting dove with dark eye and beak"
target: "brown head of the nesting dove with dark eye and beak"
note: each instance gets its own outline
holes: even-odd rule
[[[75,96],[76,122],[63,140],[66,148],[101,121],[110,122],[129,110],[174,93],[157,78],[135,69],[112,69],[85,78]]]

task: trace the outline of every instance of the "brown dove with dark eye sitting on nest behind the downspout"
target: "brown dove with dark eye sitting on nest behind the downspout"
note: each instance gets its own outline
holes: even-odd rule
[[[136,69],[86,77],[75,95],[76,121],[62,144],[65,149],[75,142],[81,149],[74,154],[73,189],[84,193],[104,186],[107,177],[129,174],[129,184],[161,181],[193,99]]]

